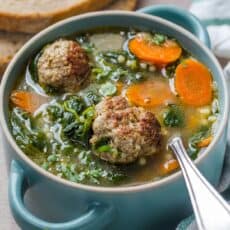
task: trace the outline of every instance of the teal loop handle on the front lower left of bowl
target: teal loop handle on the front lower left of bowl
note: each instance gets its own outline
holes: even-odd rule
[[[92,203],[80,217],[64,223],[50,223],[32,215],[24,206],[23,195],[28,189],[25,173],[20,164],[11,162],[9,180],[9,203],[17,223],[22,229],[30,230],[76,230],[103,229],[112,220],[114,209],[111,206]]]

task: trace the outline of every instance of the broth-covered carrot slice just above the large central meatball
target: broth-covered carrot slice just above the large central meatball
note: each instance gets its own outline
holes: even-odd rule
[[[169,84],[158,79],[129,86],[126,96],[131,103],[146,108],[164,105],[176,100]]]

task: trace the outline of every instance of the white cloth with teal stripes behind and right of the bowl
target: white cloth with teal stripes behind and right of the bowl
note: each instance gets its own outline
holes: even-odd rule
[[[207,27],[211,39],[212,51],[218,58],[225,58],[228,64],[224,68],[230,91],[230,0],[193,0],[190,11]],[[225,157],[223,176],[219,191],[230,199],[230,132]],[[194,216],[183,220],[176,230],[197,230]]]

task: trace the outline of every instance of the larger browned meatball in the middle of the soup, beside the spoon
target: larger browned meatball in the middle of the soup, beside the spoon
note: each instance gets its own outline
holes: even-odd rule
[[[161,147],[161,126],[154,114],[130,106],[124,97],[104,99],[96,106],[96,114],[90,143],[99,158],[131,163]]]

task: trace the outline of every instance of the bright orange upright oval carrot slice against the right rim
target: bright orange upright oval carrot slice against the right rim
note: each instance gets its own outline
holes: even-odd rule
[[[177,66],[175,88],[187,105],[202,106],[212,101],[211,73],[197,60],[190,58]]]

